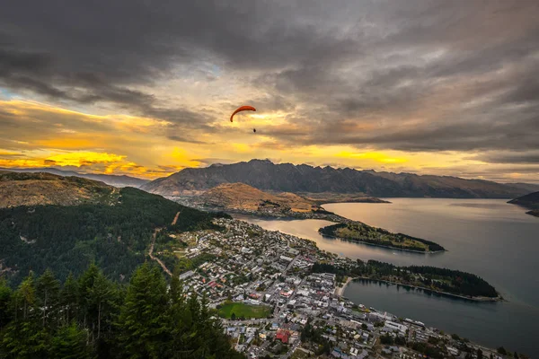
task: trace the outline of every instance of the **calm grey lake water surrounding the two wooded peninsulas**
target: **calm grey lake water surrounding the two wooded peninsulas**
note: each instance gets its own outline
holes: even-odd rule
[[[482,276],[508,302],[474,303],[408,291],[396,285],[351,283],[350,300],[410,317],[485,346],[539,353],[539,218],[499,199],[387,198],[392,204],[328,204],[344,217],[402,232],[446,248],[409,253],[323,238],[319,220],[261,220],[261,227],[316,241],[322,250],[400,266],[448,267]]]

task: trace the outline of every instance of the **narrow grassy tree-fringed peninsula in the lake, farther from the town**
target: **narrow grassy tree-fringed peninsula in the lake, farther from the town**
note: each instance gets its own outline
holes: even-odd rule
[[[411,237],[402,233],[388,232],[382,228],[372,227],[356,221],[331,224],[319,229],[318,232],[328,237],[358,241],[396,250],[408,250],[420,253],[436,253],[446,250],[433,241]]]

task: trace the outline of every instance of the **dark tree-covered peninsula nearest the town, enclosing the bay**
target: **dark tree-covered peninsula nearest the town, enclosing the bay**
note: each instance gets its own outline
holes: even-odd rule
[[[447,268],[429,266],[397,267],[393,264],[357,260],[354,266],[340,267],[330,263],[315,263],[315,273],[335,273],[338,276],[362,276],[375,280],[389,280],[403,285],[416,285],[426,289],[468,297],[499,296],[496,289],[479,276]]]

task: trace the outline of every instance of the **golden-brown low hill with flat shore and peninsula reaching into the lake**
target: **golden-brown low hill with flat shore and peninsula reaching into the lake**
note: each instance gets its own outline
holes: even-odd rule
[[[311,194],[312,195],[312,194]],[[224,183],[190,197],[171,197],[184,206],[202,210],[225,211],[229,214],[251,215],[256,217],[322,219],[336,224],[323,227],[321,234],[348,241],[356,241],[369,245],[407,250],[418,253],[435,253],[445,251],[439,244],[402,233],[388,232],[382,228],[372,227],[366,223],[352,221],[348,218],[326,211],[321,202],[327,200],[346,200],[350,202],[389,203],[375,197],[344,196],[334,194],[317,194],[314,197],[299,196],[288,192],[265,192],[244,183]]]

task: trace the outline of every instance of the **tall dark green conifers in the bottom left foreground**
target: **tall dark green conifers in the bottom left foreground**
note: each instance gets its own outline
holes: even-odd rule
[[[128,285],[91,264],[62,284],[52,271],[16,290],[0,279],[1,358],[242,358],[206,298],[170,287],[144,263]]]

